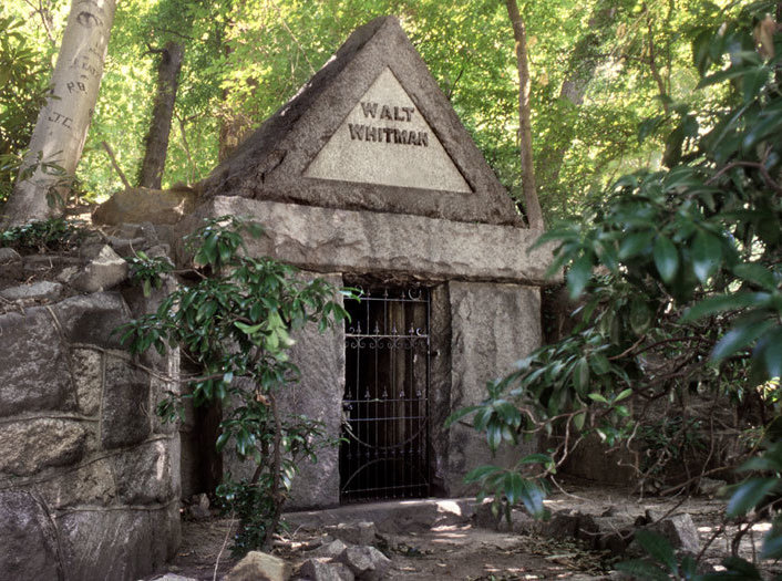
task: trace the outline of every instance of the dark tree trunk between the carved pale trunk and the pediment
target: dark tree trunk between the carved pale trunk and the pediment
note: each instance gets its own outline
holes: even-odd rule
[[[182,69],[183,48],[176,42],[167,42],[161,52],[157,65],[157,94],[152,110],[152,123],[146,134],[146,151],[144,162],[138,172],[138,185],[145,188],[160,189],[163,181],[163,170],[166,166],[171,122],[174,116],[176,91],[179,86],[179,70]]]

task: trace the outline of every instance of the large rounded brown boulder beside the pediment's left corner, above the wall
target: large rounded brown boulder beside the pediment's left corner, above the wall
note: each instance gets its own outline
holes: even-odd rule
[[[196,194],[188,190],[132,188],[114,194],[92,214],[101,224],[153,222],[176,224],[189,214]]]

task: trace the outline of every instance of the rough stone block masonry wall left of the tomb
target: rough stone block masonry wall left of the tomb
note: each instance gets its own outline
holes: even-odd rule
[[[154,413],[178,354],[113,333],[155,298],[72,292],[0,301],[0,579],[137,579],[179,542],[178,433]]]

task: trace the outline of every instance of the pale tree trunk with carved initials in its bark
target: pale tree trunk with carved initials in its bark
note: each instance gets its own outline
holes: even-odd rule
[[[4,208],[3,225],[45,219],[62,211],[61,204],[49,201],[52,194],[63,201],[68,194],[65,180],[73,178],[82,155],[101,86],[115,8],[115,0],[72,1],[52,74],[51,94],[38,116],[30,152]],[[56,164],[64,176],[47,172],[41,162]]]

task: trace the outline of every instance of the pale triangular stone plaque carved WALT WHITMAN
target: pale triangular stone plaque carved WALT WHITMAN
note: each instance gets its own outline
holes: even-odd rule
[[[388,66],[320,149],[305,176],[464,194],[472,191]]]

